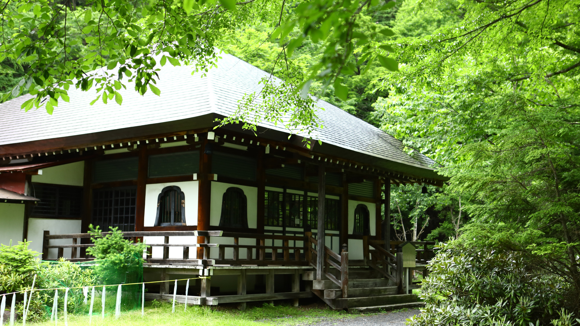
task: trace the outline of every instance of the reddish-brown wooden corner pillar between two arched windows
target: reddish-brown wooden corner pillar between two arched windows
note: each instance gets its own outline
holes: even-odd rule
[[[211,206],[211,182],[208,180],[208,174],[211,173],[212,158],[210,154],[205,154],[205,146],[208,140],[205,139],[201,143],[200,148],[200,173],[198,173],[199,180],[199,195],[198,195],[198,209],[197,209],[197,230],[209,231],[209,208]],[[197,243],[205,242],[204,237],[197,237]],[[197,259],[202,259],[204,255],[204,248],[197,247]],[[202,282],[203,283],[203,282]]]

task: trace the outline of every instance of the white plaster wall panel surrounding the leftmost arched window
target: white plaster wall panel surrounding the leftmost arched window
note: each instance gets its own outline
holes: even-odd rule
[[[200,190],[199,182],[197,181],[147,184],[145,188],[145,217],[143,225],[154,226],[155,216],[157,215],[157,198],[161,190],[167,186],[177,186],[183,191],[185,195],[185,222],[187,225],[197,225],[197,202]],[[163,243],[163,240],[157,243]],[[161,250],[161,248],[159,249]]]

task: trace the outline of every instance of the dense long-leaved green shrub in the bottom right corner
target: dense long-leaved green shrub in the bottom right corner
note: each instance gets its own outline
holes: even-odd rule
[[[408,325],[572,325],[563,308],[570,285],[531,267],[519,251],[441,244],[422,281],[422,314]]]

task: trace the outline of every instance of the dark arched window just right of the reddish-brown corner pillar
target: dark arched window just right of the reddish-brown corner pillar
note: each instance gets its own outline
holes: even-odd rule
[[[248,199],[244,190],[230,187],[223,194],[219,226],[248,227]]]

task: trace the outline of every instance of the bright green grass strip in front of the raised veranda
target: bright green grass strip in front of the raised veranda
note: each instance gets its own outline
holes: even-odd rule
[[[171,303],[147,302],[145,316],[141,310],[121,313],[115,319],[114,313],[109,313],[104,320],[100,312],[93,314],[91,326],[264,326],[264,325],[307,325],[322,319],[354,318],[356,314],[336,311],[322,305],[300,307],[263,305],[240,311],[231,307],[188,306],[183,311],[183,304],[176,305],[175,313],[171,312]],[[55,322],[48,320],[37,323],[28,322],[30,326],[53,326]],[[86,315],[68,315],[68,326],[88,326]],[[59,311],[57,326],[64,326],[63,314]]]

